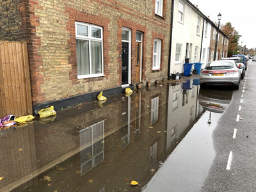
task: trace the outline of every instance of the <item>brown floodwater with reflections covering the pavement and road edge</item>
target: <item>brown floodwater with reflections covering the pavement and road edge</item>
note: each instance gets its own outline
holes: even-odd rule
[[[0,192],[198,191],[232,97],[199,90],[165,81],[0,131]]]

